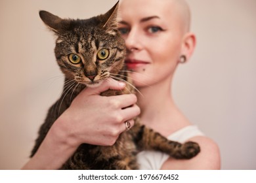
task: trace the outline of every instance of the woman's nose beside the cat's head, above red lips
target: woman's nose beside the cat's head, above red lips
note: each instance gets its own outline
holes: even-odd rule
[[[142,44],[140,42],[140,35],[137,29],[131,29],[129,34],[125,39],[125,45],[128,50],[140,50],[142,48]]]

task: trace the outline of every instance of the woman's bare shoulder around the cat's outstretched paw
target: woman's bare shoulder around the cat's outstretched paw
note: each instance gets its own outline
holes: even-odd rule
[[[161,169],[221,169],[219,146],[215,141],[205,136],[196,136],[188,141],[198,142],[200,153],[192,159],[167,159]]]

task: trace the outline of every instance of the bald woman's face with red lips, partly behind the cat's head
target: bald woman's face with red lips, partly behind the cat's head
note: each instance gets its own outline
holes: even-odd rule
[[[169,79],[181,56],[184,27],[171,0],[123,0],[119,31],[125,39],[125,61],[135,86]]]

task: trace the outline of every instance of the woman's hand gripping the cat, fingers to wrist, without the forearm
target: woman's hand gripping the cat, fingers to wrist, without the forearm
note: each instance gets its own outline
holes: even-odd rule
[[[125,122],[139,115],[137,97],[133,94],[103,97],[108,89],[121,90],[125,84],[109,79],[98,88],[86,88],[74,99],[70,108],[56,121],[65,141],[78,146],[82,143],[102,146],[113,145],[120,133],[125,131]]]

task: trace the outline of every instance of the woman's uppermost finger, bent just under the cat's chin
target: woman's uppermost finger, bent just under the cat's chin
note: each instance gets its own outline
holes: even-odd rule
[[[108,78],[108,79],[104,80],[104,82],[102,82],[100,84],[100,86],[97,86],[95,88],[87,87],[86,90],[88,93],[99,95],[100,93],[102,93],[106,90],[109,90],[109,89],[110,90],[122,90],[123,88],[125,88],[124,82],[119,82],[112,78]]]

